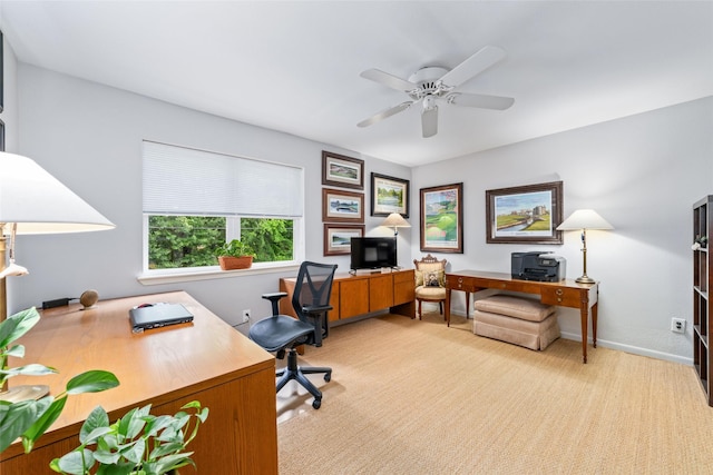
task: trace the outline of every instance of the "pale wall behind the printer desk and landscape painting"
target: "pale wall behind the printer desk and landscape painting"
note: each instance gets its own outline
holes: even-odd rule
[[[509,273],[510,253],[550,250],[574,278],[583,270],[578,232],[561,246],[486,244],[486,190],[563,180],[565,217],[594,208],[616,228],[587,232],[587,274],[600,280],[598,344],[691,364],[691,208],[713,194],[712,129],[706,98],[419,167],[413,190],[463,181],[465,254],[441,256],[451,270]],[[455,305],[465,311],[462,296]],[[670,330],[672,317],[688,320],[685,335]],[[580,340],[576,310],[559,323]]]

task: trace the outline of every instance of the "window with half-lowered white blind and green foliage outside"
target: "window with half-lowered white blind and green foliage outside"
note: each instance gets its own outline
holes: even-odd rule
[[[295,264],[303,196],[302,168],[144,141],[144,269],[217,267],[214,249],[236,238],[253,267]]]

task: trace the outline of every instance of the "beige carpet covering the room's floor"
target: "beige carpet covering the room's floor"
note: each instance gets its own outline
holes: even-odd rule
[[[713,474],[713,408],[691,367],[558,339],[545,352],[437,314],[332,328],[301,362],[322,408],[279,395],[281,474]],[[291,383],[292,384],[292,383]]]

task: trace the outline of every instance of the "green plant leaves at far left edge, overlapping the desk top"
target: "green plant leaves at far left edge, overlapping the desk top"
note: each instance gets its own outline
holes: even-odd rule
[[[0,321],[0,387],[18,375],[43,376],[57,373],[57,369],[40,364],[30,364],[16,368],[8,367],[10,356],[25,357],[23,345],[12,345],[27,334],[40,320],[35,307],[12,315]],[[57,420],[65,408],[67,396],[81,393],[98,393],[119,385],[114,374],[94,369],[72,377],[65,390],[57,396],[46,396],[39,400],[10,403],[2,400],[0,394],[0,453],[14,439],[22,438],[25,452],[32,451],[37,439]]]

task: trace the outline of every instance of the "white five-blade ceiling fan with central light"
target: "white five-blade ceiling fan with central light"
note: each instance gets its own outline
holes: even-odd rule
[[[451,70],[424,67],[411,75],[408,81],[379,69],[368,69],[360,75],[362,78],[403,91],[411,100],[377,112],[356,126],[369,127],[421,102],[421,130],[427,138],[438,132],[438,100],[453,106],[505,110],[512,106],[515,99],[456,91],[460,85],[501,61],[505,56],[502,49],[487,46]]]

